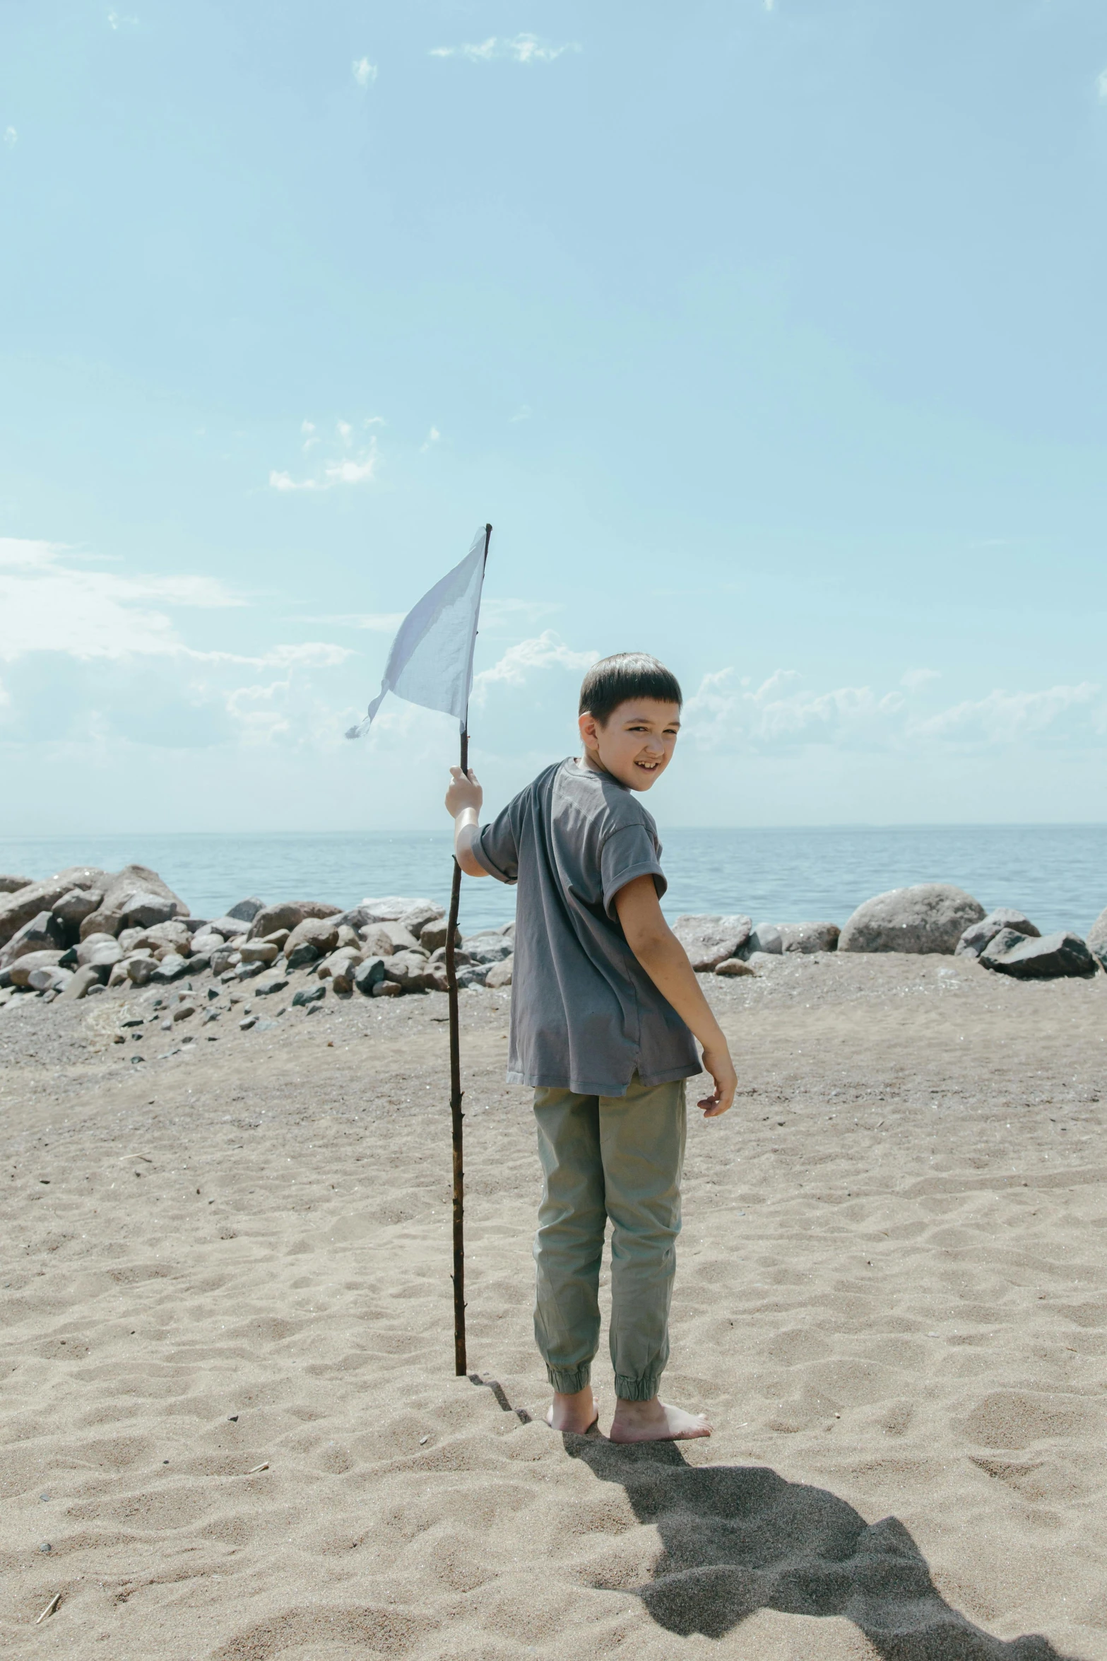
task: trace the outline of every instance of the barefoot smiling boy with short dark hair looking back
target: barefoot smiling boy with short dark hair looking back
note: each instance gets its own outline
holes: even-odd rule
[[[719,1118],[735,1073],[689,958],[669,930],[657,827],[637,796],[672,759],[680,688],[644,653],[584,676],[584,754],[546,767],[480,826],[476,777],[453,767],[446,809],[470,877],[518,882],[508,1083],[534,1086],[543,1201],[534,1337],[554,1389],[548,1423],[591,1430],[599,1264],[611,1218],[612,1442],[710,1435],[657,1395],[680,1229],[684,1081],[715,1081]]]

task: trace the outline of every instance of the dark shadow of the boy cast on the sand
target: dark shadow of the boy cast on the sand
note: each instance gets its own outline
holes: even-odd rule
[[[827,1488],[757,1465],[685,1465],[672,1442],[563,1440],[656,1523],[666,1550],[637,1596],[671,1633],[722,1638],[757,1610],[780,1610],[841,1614],[883,1661],[1066,1661],[1047,1638],[1004,1643],[951,1610],[895,1516],[870,1525]]]

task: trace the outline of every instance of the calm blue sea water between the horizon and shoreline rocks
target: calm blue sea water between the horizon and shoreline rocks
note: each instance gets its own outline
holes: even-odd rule
[[[956,882],[991,910],[1017,905],[1042,933],[1085,933],[1107,907],[1107,826],[856,826],[778,830],[662,829],[664,910],[745,912],[753,922],[850,912],[886,889]],[[450,899],[450,832],[345,835],[0,837],[0,872],[46,877],[65,865],[153,865],[194,917],[236,900],[314,899],[355,905],[368,895]],[[466,877],[466,933],[510,922],[514,890]]]

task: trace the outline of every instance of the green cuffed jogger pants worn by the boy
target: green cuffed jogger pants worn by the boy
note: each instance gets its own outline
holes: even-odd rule
[[[616,1395],[649,1402],[669,1359],[680,1232],[684,1080],[626,1096],[536,1090],[543,1201],[534,1236],[534,1337],[554,1390],[589,1382],[599,1347],[599,1264],[611,1218]]]

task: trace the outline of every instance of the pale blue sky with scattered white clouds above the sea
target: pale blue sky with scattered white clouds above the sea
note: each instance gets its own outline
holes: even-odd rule
[[[662,824],[1107,819],[1099,0],[0,20],[0,832],[440,822],[656,651]]]

